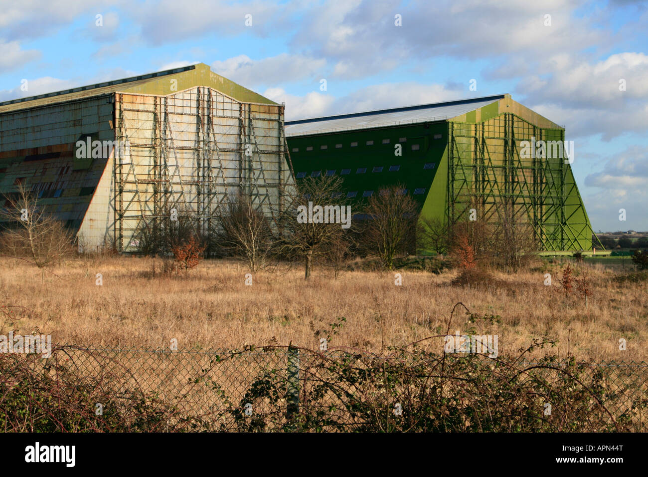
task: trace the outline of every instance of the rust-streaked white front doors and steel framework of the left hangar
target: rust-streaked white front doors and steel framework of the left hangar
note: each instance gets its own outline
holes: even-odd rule
[[[117,93],[113,201],[115,243],[135,250],[141,231],[188,214],[213,230],[228,199],[244,194],[275,221],[283,212],[287,151],[283,106],[240,103],[208,87],[169,96]]]

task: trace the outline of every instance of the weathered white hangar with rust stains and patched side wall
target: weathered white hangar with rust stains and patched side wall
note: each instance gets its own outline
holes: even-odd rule
[[[89,249],[135,250],[171,206],[207,232],[240,192],[272,217],[292,182],[283,121],[205,64],[6,101],[0,193],[25,184]]]

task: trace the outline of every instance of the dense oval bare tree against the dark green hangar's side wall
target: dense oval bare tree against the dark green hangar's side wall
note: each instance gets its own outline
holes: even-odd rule
[[[364,247],[380,258],[383,267],[392,269],[399,254],[413,252],[419,205],[402,185],[382,188],[369,197],[365,206],[367,224]]]

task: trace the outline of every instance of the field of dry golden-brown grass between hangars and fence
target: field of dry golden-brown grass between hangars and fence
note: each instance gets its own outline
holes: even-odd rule
[[[443,335],[453,306],[462,302],[478,315],[499,315],[499,323],[469,317],[460,306],[450,332],[494,334],[499,354],[517,354],[534,339],[558,341],[537,353],[571,353],[577,360],[648,361],[646,282],[619,284],[619,271],[576,265],[592,291],[585,306],[577,293],[566,296],[558,278],[562,265],[542,264],[516,275],[492,272],[494,280],[453,284],[457,271],[345,271],[280,265],[253,276],[240,262],[205,260],[183,275],[160,273],[151,258],[76,258],[45,273],[19,260],[0,259],[0,334],[51,334],[58,345],[160,348],[178,340],[182,349],[239,349],[244,345],[288,345],[316,349],[331,323],[346,321],[331,334],[329,349],[380,352],[429,336]],[[95,274],[102,274],[102,285]],[[552,286],[544,285],[551,273]],[[54,275],[55,274],[55,275]],[[627,350],[619,350],[619,339]],[[443,351],[443,339],[419,343]]]

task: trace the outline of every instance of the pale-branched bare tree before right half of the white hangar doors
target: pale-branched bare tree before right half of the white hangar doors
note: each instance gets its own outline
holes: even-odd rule
[[[218,215],[216,227],[213,236],[223,254],[244,258],[251,273],[268,265],[277,239],[267,217],[254,206],[249,195],[230,197]]]

